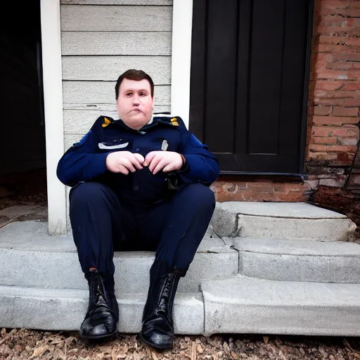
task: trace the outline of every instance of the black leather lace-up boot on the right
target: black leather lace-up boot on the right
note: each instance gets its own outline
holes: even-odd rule
[[[172,306],[179,278],[179,274],[165,274],[150,285],[140,338],[155,349],[172,349]]]

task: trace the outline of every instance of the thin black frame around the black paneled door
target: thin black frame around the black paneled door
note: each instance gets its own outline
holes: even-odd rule
[[[221,171],[223,175],[276,175],[276,176],[304,176],[305,173],[305,151],[307,139],[307,112],[309,100],[309,75],[311,63],[311,39],[313,35],[314,26],[314,0],[309,1],[308,10],[308,26],[307,26],[307,54],[304,67],[304,89],[303,89],[303,102],[302,102],[302,120],[300,124],[300,153],[298,174],[295,173],[278,173],[278,172],[226,172]],[[200,141],[203,141],[203,104],[205,100],[204,86],[205,84],[205,17],[206,17],[206,3],[207,0],[195,1],[193,6],[193,34],[191,53],[191,91],[190,91],[190,114],[189,114],[189,127],[191,131],[198,136]],[[201,20],[200,20],[201,19]],[[195,55],[195,56],[193,56]]]

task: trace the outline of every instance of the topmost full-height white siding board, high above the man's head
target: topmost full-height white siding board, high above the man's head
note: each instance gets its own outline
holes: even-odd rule
[[[172,30],[172,6],[61,6],[61,31]]]

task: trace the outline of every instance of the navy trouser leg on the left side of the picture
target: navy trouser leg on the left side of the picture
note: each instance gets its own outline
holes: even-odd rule
[[[70,191],[70,221],[86,278],[89,269],[96,268],[105,286],[113,288],[114,243],[126,243],[134,236],[133,215],[108,186],[89,182]]]

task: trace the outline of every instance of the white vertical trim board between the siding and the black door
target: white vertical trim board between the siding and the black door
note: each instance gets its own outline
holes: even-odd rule
[[[174,0],[172,10],[172,115],[188,127],[193,0]]]

